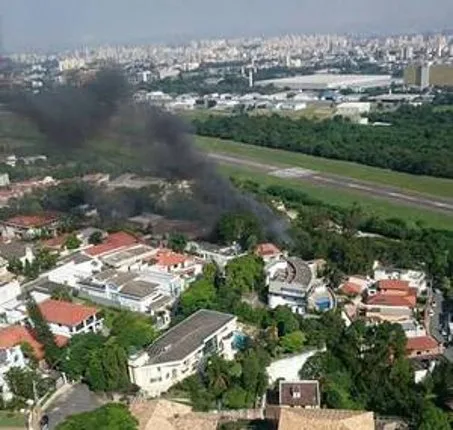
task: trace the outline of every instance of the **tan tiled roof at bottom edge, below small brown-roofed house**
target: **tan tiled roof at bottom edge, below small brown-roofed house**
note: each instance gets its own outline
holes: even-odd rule
[[[280,408],[276,415],[278,430],[375,430],[373,412]]]

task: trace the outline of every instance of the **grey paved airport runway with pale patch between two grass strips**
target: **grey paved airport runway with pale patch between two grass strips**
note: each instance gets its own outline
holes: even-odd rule
[[[216,160],[220,164],[249,167],[282,179],[300,180],[314,185],[349,190],[371,197],[378,197],[399,204],[429,209],[453,216],[453,197],[451,199],[433,197],[425,194],[419,194],[413,191],[403,190],[401,188],[388,187],[371,182],[359,181],[356,179],[347,178],[345,176],[331,175],[328,173],[322,173],[301,167],[273,166],[251,159],[238,158],[220,153],[209,153],[208,157]]]

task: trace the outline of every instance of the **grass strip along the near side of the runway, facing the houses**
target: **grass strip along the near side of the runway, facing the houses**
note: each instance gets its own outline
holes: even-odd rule
[[[328,187],[314,186],[294,179],[276,178],[248,167],[220,166],[219,169],[225,175],[255,180],[261,185],[278,184],[297,188],[317,200],[334,206],[348,207],[354,203],[358,203],[364,211],[370,215],[374,214],[382,218],[401,218],[412,224],[422,222],[427,227],[453,231],[453,217],[447,214],[399,205],[382,200],[378,197],[365,196],[354,191],[343,191]]]

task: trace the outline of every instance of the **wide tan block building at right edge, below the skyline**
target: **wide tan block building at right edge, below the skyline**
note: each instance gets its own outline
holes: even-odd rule
[[[412,65],[404,71],[404,83],[420,88],[453,87],[453,65]]]

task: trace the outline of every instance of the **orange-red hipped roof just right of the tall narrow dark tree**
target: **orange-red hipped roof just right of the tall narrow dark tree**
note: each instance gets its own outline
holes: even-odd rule
[[[47,322],[68,327],[76,326],[98,312],[93,306],[51,299],[42,302],[39,309]]]

